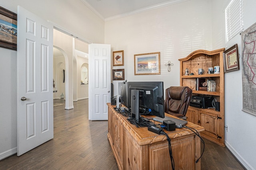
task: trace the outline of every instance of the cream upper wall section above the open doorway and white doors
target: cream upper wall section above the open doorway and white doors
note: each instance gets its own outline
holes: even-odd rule
[[[80,0],[11,0],[1,1],[2,7],[17,13],[22,6],[55,26],[69,31],[80,39],[93,43],[104,43],[104,21],[96,16]]]

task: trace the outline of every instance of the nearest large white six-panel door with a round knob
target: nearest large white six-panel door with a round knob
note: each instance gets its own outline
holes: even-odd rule
[[[18,6],[17,155],[53,138],[53,25]]]

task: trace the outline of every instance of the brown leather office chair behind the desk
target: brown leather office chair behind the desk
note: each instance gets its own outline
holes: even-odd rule
[[[165,90],[165,95],[164,111],[186,120],[192,89],[186,86],[171,86]]]

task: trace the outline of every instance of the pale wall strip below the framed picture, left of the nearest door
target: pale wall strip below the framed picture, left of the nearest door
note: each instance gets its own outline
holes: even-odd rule
[[[17,152],[17,56],[0,47],[0,160]]]

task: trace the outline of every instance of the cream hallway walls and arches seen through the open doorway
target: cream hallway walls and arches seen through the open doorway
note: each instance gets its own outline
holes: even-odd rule
[[[81,80],[82,65],[87,64],[88,68],[88,44],[56,29],[53,35],[54,103],[57,103],[57,106],[64,103],[65,109],[73,109],[73,102],[89,96],[89,82],[85,83],[85,80]],[[88,72],[89,69],[87,74]]]

